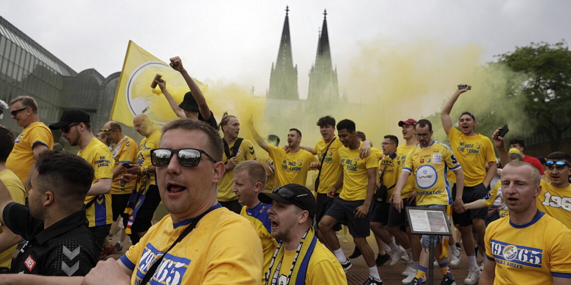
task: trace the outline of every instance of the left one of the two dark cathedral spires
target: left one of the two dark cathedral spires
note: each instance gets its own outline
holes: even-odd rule
[[[286,6],[282,40],[278,50],[278,59],[270,74],[270,88],[267,97],[299,99],[299,93],[297,92],[297,66],[293,66],[291,38],[289,36],[289,6]]]

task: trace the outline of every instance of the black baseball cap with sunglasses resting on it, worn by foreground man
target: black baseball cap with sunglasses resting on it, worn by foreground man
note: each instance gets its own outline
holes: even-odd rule
[[[274,188],[272,193],[258,193],[258,199],[263,203],[271,204],[278,201],[293,204],[309,212],[309,217],[315,219],[316,202],[313,193],[305,186],[299,184],[286,184]]]

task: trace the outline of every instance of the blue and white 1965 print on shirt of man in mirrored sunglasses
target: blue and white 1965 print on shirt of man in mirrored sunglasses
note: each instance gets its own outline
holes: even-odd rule
[[[147,243],[143,250],[143,255],[140,258],[140,262],[136,268],[136,280],[135,284],[140,284],[143,280],[144,275],[147,274],[149,268],[156,259],[163,255],[162,251],[155,249],[151,243]],[[184,273],[188,268],[191,260],[182,257],[176,257],[171,254],[164,254],[163,260],[160,262],[159,267],[156,269],[155,273],[152,275],[150,284],[180,284]]]

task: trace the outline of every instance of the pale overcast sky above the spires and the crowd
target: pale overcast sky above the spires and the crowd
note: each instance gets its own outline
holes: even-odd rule
[[[182,56],[200,80],[255,87],[264,96],[286,5],[300,97],[327,9],[340,84],[372,42],[481,48],[481,63],[530,42],[570,42],[571,1],[33,1],[0,0],[0,15],[77,72],[120,71],[128,40],[168,62]],[[347,86],[340,86],[340,89]]]

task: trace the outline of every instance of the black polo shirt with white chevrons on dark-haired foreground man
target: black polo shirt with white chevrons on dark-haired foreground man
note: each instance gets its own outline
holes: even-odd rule
[[[9,203],[2,213],[6,226],[26,239],[10,272],[47,276],[85,276],[95,267],[94,238],[88,229],[85,209],[43,229],[30,209]]]

